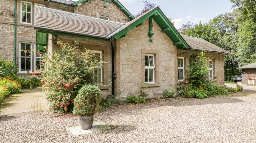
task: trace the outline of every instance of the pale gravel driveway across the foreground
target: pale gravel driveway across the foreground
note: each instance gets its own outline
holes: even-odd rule
[[[112,130],[68,137],[73,115],[0,116],[0,142],[256,142],[256,94],[116,105],[97,113]]]

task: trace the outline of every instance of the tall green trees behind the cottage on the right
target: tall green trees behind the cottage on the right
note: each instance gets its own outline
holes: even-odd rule
[[[183,24],[181,34],[203,38],[234,55],[225,56],[225,80],[241,74],[236,69],[256,62],[256,1],[231,0],[234,10],[220,14],[208,23]]]

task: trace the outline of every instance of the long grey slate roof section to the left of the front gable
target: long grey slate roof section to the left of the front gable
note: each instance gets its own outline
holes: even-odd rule
[[[38,30],[107,39],[110,33],[122,25],[124,24],[119,22],[35,6],[34,29]]]

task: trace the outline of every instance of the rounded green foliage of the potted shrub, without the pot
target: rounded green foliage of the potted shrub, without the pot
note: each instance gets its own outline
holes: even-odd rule
[[[73,114],[80,116],[89,116],[97,112],[101,102],[101,92],[98,86],[85,85],[83,86],[78,95],[74,99],[74,111]],[[66,103],[60,103],[67,107]]]

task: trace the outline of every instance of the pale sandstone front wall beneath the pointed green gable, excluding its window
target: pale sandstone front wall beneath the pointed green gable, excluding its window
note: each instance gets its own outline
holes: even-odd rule
[[[170,38],[162,33],[161,28],[153,20],[153,31],[155,35],[149,42],[148,20],[144,24],[129,31],[127,36],[117,40],[117,97],[126,97],[139,94],[141,83],[144,83],[144,54],[155,56],[155,83],[144,84],[148,86],[149,95],[161,95],[164,89],[176,90],[176,46]],[[120,76],[120,77],[119,77]]]

